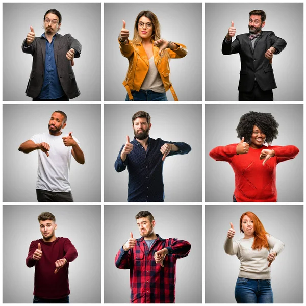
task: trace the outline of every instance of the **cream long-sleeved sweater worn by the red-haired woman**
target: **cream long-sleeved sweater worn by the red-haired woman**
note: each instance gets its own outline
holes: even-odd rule
[[[285,247],[285,244],[271,235],[267,235],[270,250],[262,248],[253,250],[254,238],[235,240],[226,238],[224,243],[225,253],[237,255],[240,260],[240,272],[238,277],[250,279],[271,279],[271,271],[267,261],[269,253],[275,251],[277,256]],[[272,263],[273,265],[273,263]],[[271,266],[272,266],[271,265]]]

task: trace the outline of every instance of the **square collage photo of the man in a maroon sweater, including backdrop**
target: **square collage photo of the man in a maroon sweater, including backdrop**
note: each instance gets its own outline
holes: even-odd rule
[[[101,303],[101,206],[3,205],[3,263],[3,303]]]

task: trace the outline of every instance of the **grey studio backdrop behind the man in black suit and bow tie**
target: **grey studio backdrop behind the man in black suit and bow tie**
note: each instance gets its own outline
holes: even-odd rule
[[[287,42],[273,57],[274,100],[303,100],[303,3],[206,3],[205,100],[238,101],[240,57],[223,55],[222,41],[232,20],[236,35],[248,33],[249,12],[257,9],[267,14],[263,31],[273,31]],[[290,25],[284,25],[279,16],[290,16]]]

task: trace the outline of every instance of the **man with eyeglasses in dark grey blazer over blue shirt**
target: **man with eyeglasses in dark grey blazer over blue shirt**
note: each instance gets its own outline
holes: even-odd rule
[[[30,32],[22,43],[22,51],[33,56],[32,71],[25,93],[33,101],[69,101],[79,96],[80,90],[75,81],[73,59],[81,55],[82,45],[70,34],[58,33],[62,15],[55,9],[44,15],[45,32],[35,37]]]

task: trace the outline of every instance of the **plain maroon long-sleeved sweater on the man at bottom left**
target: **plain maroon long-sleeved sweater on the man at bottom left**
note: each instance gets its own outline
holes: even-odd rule
[[[33,254],[41,245],[42,257],[34,260]],[[40,298],[58,299],[70,294],[68,281],[69,262],[77,258],[78,252],[68,238],[57,237],[53,242],[43,239],[32,241],[25,264],[35,266],[34,295]],[[55,274],[55,262],[65,258],[67,263]]]

